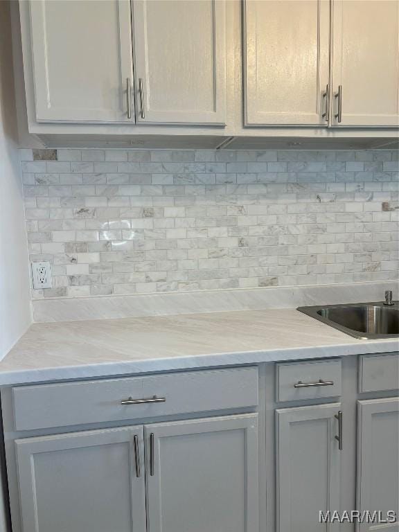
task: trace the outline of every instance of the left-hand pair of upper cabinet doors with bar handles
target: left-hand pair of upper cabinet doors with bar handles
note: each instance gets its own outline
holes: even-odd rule
[[[224,0],[35,0],[29,22],[38,122],[224,125]]]

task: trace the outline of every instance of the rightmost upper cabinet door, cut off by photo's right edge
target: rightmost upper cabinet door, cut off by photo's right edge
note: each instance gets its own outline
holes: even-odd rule
[[[399,1],[335,0],[332,89],[342,86],[342,121],[334,125],[399,125]]]

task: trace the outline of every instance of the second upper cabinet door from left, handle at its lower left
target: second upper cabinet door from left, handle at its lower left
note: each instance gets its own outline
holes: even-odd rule
[[[133,0],[136,118],[224,125],[224,0]]]

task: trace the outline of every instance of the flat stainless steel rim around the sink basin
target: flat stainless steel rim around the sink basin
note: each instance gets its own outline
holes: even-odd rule
[[[338,303],[335,305],[312,305],[312,306],[302,306],[296,308],[296,310],[299,310],[299,312],[303,312],[303,314],[306,314],[314,319],[317,319],[317,321],[321,321],[322,323],[325,323],[326,325],[335,328],[337,330],[340,330],[341,332],[344,332],[346,335],[349,335],[351,337],[362,339],[362,340],[378,340],[378,339],[394,339],[399,338],[398,334],[377,334],[377,333],[371,333],[371,332],[360,332],[358,330],[354,330],[348,327],[345,327],[335,321],[332,321],[331,319],[328,319],[326,317],[321,316],[318,312],[323,309],[328,308],[353,308],[353,307],[378,307],[378,308],[384,308],[387,310],[396,310],[399,311],[399,301],[393,301],[393,305],[384,305],[382,301],[367,301],[367,302],[360,302],[360,303]]]

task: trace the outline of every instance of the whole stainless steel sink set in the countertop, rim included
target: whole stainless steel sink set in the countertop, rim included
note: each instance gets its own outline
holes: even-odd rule
[[[382,303],[354,303],[299,307],[297,310],[355,338],[399,337],[397,301],[392,306],[384,306]]]

